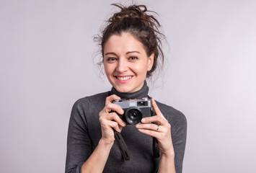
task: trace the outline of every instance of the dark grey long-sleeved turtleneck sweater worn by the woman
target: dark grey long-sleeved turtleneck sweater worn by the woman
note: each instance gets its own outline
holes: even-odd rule
[[[123,99],[141,99],[148,97],[149,87],[146,82],[141,90],[133,93],[120,93],[115,88],[110,92],[84,97],[75,102],[69,120],[67,140],[66,173],[80,173],[81,165],[92,154],[102,136],[99,112],[105,107],[105,99],[116,94]],[[185,152],[187,120],[182,112],[160,102],[156,102],[164,117],[171,124],[172,143],[175,149],[175,168],[182,172]],[[152,138],[140,133],[135,125],[126,125],[121,132],[130,153],[130,160],[125,161],[117,143],[111,148],[103,172],[157,172],[159,158],[153,156]]]

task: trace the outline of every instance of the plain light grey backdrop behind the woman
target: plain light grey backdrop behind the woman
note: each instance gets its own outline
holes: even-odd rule
[[[64,172],[73,103],[110,89],[93,36],[113,2],[0,1],[1,172]],[[184,172],[256,172],[256,1],[144,3],[169,44],[150,94],[187,117]]]

